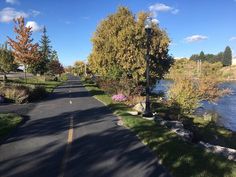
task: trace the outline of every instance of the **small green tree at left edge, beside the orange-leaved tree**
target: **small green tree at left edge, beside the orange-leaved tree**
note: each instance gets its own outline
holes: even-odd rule
[[[0,72],[3,74],[4,83],[7,81],[6,74],[16,70],[16,68],[12,51],[8,49],[7,43],[5,43],[0,47]]]

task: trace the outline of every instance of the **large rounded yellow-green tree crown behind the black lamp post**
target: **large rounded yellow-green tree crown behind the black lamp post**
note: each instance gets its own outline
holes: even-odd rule
[[[148,14],[140,13],[138,20],[126,8],[103,20],[92,38],[93,49],[89,56],[90,70],[114,79],[131,78],[136,85],[144,80],[147,37],[144,22]],[[151,81],[160,79],[168,71],[172,57],[168,55],[170,39],[159,26],[152,26]]]

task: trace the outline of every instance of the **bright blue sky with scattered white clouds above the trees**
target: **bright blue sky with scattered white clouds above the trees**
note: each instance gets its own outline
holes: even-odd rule
[[[38,42],[46,26],[53,49],[64,66],[87,60],[91,37],[101,20],[119,6],[134,14],[150,12],[167,31],[170,54],[217,54],[230,46],[236,56],[236,0],[0,0],[0,43],[15,37],[13,18],[24,16]]]

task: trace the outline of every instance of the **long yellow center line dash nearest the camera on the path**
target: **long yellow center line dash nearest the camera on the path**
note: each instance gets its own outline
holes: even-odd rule
[[[71,149],[71,143],[73,142],[73,125],[74,125],[74,118],[73,116],[70,116],[70,125],[69,125],[69,130],[68,130],[68,137],[67,137],[67,145],[66,145],[66,150],[65,154],[62,160],[62,166],[61,166],[61,171],[59,174],[59,177],[64,177],[65,176],[65,170],[70,154],[70,149]]]

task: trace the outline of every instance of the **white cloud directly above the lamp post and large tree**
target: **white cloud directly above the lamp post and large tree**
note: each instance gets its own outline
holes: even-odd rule
[[[149,6],[149,10],[153,17],[157,17],[159,12],[171,12],[172,14],[177,14],[179,12],[179,9],[162,3],[156,3]]]

